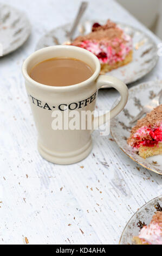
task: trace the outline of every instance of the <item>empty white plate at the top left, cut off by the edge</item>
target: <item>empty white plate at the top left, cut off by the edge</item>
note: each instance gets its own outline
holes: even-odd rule
[[[3,56],[22,46],[30,32],[30,23],[24,13],[0,3],[0,44]]]

